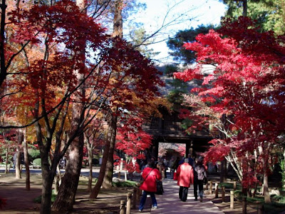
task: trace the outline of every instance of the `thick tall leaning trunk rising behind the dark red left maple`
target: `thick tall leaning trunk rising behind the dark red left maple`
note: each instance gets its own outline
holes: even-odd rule
[[[86,14],[86,1],[76,0],[76,5],[81,9],[83,14]],[[81,50],[78,54],[85,56],[86,50]],[[84,58],[84,57],[83,57]],[[85,63],[85,59],[83,59]],[[78,76],[78,82],[84,80],[84,74],[78,71],[74,71]],[[61,185],[56,196],[56,201],[53,203],[53,210],[63,211],[72,210],[75,202],[76,191],[78,188],[79,177],[81,175],[81,167],[83,161],[83,147],[84,147],[84,135],[83,135],[83,118],[84,118],[84,101],[86,98],[84,83],[81,85],[80,91],[76,94],[72,108],[72,127],[71,136],[78,135],[68,148],[68,164],[66,166],[66,173],[61,179]]]

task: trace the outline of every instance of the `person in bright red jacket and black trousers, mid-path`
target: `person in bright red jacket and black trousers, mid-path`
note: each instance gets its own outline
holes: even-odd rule
[[[189,159],[185,158],[184,163],[177,168],[177,185],[179,188],[179,198],[182,201],[187,200],[188,188],[194,183],[194,172],[192,166],[188,163]]]

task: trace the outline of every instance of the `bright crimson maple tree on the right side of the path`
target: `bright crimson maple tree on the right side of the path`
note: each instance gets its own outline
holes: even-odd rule
[[[197,66],[175,73],[184,81],[202,80],[185,96],[192,111],[182,116],[215,134],[205,161],[227,157],[233,163],[234,153],[244,185],[251,185],[257,181],[254,172],[268,175],[270,151],[284,131],[284,37],[260,33],[254,21],[241,17],[225,19],[219,32],[196,40],[185,49],[197,53]],[[212,65],[212,72],[204,65]]]

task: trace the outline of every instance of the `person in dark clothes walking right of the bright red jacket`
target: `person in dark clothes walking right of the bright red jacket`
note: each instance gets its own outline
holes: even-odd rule
[[[195,166],[194,170],[194,196],[195,200],[198,200],[198,193],[197,190],[199,187],[199,198],[200,201],[203,201],[203,185],[205,183],[205,180],[207,179],[206,170],[204,168],[204,165],[202,164],[202,161],[197,161],[197,164]]]

